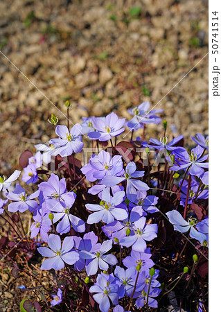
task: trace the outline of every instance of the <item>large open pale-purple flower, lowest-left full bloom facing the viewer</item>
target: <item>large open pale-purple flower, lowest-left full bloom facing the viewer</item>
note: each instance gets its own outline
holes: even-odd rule
[[[78,252],[71,250],[73,248],[73,239],[71,236],[65,237],[63,243],[58,235],[50,234],[48,236],[48,247],[39,247],[37,250],[43,257],[49,257],[44,260],[41,270],[60,270],[64,268],[64,263],[69,265],[76,263],[79,259]]]

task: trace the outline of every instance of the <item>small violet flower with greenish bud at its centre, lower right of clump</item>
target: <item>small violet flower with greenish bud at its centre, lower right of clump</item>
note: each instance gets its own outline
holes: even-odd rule
[[[150,253],[150,248],[146,248],[144,252],[136,252],[135,250],[132,250],[130,256],[123,259],[123,265],[126,268],[136,268],[139,264],[141,266],[141,272],[143,270],[146,271],[154,266],[154,262],[150,259],[151,256],[152,254]]]

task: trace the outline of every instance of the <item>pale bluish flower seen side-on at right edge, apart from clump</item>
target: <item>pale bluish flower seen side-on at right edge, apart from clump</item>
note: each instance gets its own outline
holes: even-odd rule
[[[197,223],[195,218],[188,218],[187,222],[177,210],[168,211],[166,215],[168,216],[170,223],[173,224],[175,231],[182,233],[190,231],[192,239],[197,239],[197,241],[200,241],[201,244],[206,240],[206,235],[195,229],[195,225]]]

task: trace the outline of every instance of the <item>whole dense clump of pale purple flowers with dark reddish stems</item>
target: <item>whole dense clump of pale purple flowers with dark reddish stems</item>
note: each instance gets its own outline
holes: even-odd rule
[[[83,119],[82,125],[77,123],[71,130],[57,125],[58,138],[35,146],[37,153],[29,155],[23,166],[21,185],[30,184],[32,193],[18,182],[11,186],[20,171],[8,179],[0,177],[0,191],[6,196],[0,199],[0,214],[6,209],[12,214],[29,211],[33,218],[30,239],[34,252],[37,250],[38,257],[44,258],[41,269],[65,272],[62,276],[67,281],[53,288],[57,295],[52,295],[52,306],[70,302],[71,311],[81,309],[82,304],[85,311],[97,311],[98,304],[103,312],[110,308],[114,312],[157,308],[157,297],[166,294],[164,280],[168,282],[174,272],[179,275],[180,263],[191,266],[186,263],[187,257],[182,257],[186,245],[180,238],[191,239],[192,251],[197,246],[202,254],[207,252],[208,139],[197,134],[193,141],[199,145],[190,154],[180,146],[182,135],[168,141],[165,127],[160,140],[133,141],[131,136],[127,144],[116,145],[112,141],[125,127],[132,133],[143,128],[144,135],[148,123],[159,124],[161,119],[156,114],[162,110],[148,112],[149,108],[150,104],[145,102],[129,110],[131,121],[119,119],[112,112],[106,117]],[[103,145],[99,142],[109,141],[112,153],[107,148],[98,148],[96,153],[93,144],[93,155],[81,166],[76,154],[84,146],[82,135],[93,143],[96,140],[97,147]],[[159,165],[154,170],[149,157],[148,164],[142,163],[140,150],[148,153],[147,148],[154,148],[156,154],[166,151],[163,170]],[[127,162],[125,153],[130,155]],[[57,163],[55,172],[49,174],[51,157]],[[62,165],[58,166],[60,159]],[[177,268],[168,273],[166,263],[171,261],[174,265],[174,246],[176,252],[182,250],[181,259]],[[165,263],[161,264],[162,261]],[[154,269],[155,263],[160,270]],[[74,300],[71,292],[76,294]],[[85,296],[81,303],[79,293]]]

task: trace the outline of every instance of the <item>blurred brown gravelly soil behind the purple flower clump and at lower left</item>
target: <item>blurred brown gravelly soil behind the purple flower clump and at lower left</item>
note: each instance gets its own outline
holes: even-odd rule
[[[67,123],[67,98],[73,124],[112,111],[128,119],[127,108],[150,101],[163,108],[170,139],[207,135],[207,15],[200,0],[0,1],[0,50],[45,95],[0,54],[0,174],[55,137],[47,120]],[[162,131],[148,125],[145,139]],[[19,311],[21,283],[2,269],[1,311]]]

